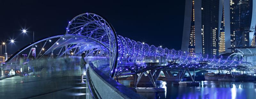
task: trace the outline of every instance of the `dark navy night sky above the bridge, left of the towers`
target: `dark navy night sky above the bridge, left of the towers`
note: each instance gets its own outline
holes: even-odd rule
[[[95,12],[105,17],[118,35],[178,50],[184,8],[185,0],[0,0],[0,40],[15,39],[15,44],[7,45],[7,53],[13,54],[33,41],[33,34],[21,34],[21,28],[35,31],[36,41],[65,34],[68,21],[79,14]]]

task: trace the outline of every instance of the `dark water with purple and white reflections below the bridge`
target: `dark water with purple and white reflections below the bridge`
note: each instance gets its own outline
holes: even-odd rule
[[[131,80],[121,81],[129,87]],[[201,81],[201,85],[173,85],[163,81],[165,92],[141,92],[148,99],[256,99],[256,82]]]

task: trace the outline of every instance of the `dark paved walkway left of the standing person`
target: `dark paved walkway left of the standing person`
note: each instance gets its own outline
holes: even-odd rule
[[[0,98],[85,99],[86,87],[80,78],[61,74],[14,76],[0,80]]]

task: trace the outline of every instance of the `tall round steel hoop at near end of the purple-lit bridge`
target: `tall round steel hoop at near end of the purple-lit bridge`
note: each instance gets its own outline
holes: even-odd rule
[[[110,49],[109,64],[112,71],[111,77],[115,76],[114,70],[116,69],[117,62],[120,61],[120,59],[118,60],[118,38],[115,29],[107,19],[99,14],[90,12],[80,14],[68,22],[66,34],[88,36],[108,46]]]

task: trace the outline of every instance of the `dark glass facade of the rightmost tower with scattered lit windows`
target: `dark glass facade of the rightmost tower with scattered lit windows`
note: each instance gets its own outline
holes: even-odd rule
[[[252,0],[230,0],[231,47],[249,47]],[[232,49],[232,52],[234,49]]]

